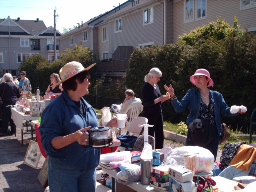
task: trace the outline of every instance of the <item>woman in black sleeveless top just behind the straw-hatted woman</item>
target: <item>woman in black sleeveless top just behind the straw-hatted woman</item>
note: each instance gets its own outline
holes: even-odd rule
[[[50,76],[51,83],[48,86],[44,98],[49,98],[52,94],[58,96],[61,94],[63,88],[62,84],[56,86],[58,82],[60,82],[60,76],[56,73],[51,74]]]

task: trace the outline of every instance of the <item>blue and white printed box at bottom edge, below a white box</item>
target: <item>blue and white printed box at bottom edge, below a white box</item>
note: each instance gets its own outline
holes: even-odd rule
[[[177,180],[169,179],[169,192],[196,192],[197,184],[193,181],[181,183]]]

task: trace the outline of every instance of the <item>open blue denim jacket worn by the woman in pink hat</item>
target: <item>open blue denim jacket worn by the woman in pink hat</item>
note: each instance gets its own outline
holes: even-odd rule
[[[214,92],[217,98],[218,106],[216,103]],[[228,105],[224,101],[222,94],[220,94],[219,92],[209,90],[209,98],[214,105],[214,115],[215,115],[216,125],[218,128],[219,135],[221,135],[221,120],[220,120],[218,107],[220,109],[220,113],[223,116],[237,116],[238,113],[236,114],[230,113],[230,107],[228,107]],[[187,94],[182,98],[181,101],[178,101],[177,99],[173,100],[172,107],[178,113],[184,112],[187,109],[190,110],[190,114],[188,115],[186,120],[186,124],[189,125],[194,119],[198,117],[200,100],[201,100],[200,90],[198,88],[193,88],[188,90]]]

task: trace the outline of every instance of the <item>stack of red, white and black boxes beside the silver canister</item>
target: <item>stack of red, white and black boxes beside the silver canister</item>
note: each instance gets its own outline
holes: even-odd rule
[[[169,166],[152,168],[150,186],[160,192],[169,190]]]

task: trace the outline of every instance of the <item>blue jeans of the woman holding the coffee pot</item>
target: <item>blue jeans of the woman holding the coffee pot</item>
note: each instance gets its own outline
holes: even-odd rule
[[[49,157],[48,183],[50,192],[95,192],[96,168],[80,170]]]

